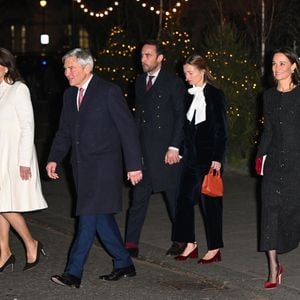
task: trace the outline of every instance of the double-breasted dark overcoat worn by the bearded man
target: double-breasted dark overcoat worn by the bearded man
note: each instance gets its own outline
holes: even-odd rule
[[[180,148],[183,140],[183,81],[161,69],[152,88],[146,91],[146,76],[138,76],[136,120],[143,154],[143,169],[150,176],[154,192],[174,187],[180,165],[164,162],[169,146]]]

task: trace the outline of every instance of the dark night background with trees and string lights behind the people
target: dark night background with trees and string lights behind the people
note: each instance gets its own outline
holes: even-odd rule
[[[165,66],[180,75],[189,54],[197,52],[208,59],[215,84],[229,101],[228,162],[246,168],[251,164],[261,127],[260,95],[270,83],[269,53],[280,46],[298,50],[299,0],[49,0],[46,6],[41,4],[0,0],[0,46],[16,55],[30,88],[37,143],[51,140],[57,128],[67,86],[61,57],[67,50],[89,48],[94,71],[119,84],[134,110],[132,86],[141,71],[139,45],[159,38],[166,46]],[[49,35],[49,44],[40,43],[42,33]]]

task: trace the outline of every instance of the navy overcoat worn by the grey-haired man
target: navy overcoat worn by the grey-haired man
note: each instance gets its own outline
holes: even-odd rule
[[[64,93],[48,161],[60,163],[71,148],[77,215],[115,213],[122,209],[123,157],[127,171],[141,170],[136,125],[115,84],[94,75],[79,111],[77,91]]]

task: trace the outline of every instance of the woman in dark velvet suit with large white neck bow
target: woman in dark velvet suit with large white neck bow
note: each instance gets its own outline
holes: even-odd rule
[[[201,194],[201,185],[212,167],[222,168],[226,132],[226,99],[223,92],[210,84],[212,76],[203,57],[190,56],[184,64],[188,89],[185,123],[183,173],[177,204],[174,240],[187,244],[176,260],[198,257],[195,240],[194,205],[200,205],[203,215],[207,253],[198,263],[207,264],[221,260],[222,197]]]

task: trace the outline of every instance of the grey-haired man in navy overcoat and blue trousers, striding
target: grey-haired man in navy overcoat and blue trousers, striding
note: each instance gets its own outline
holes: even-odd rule
[[[123,158],[127,179],[135,185],[142,179],[141,153],[121,90],[92,74],[90,52],[71,50],[63,63],[70,87],[64,93],[60,125],[46,169],[50,178],[57,179],[57,164],[71,149],[79,222],[65,271],[51,280],[79,288],[96,233],[114,264],[112,273],[100,279],[118,280],[136,274],[114,214],[122,209]]]

